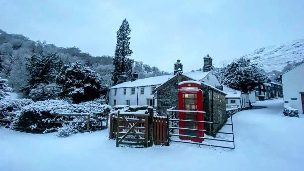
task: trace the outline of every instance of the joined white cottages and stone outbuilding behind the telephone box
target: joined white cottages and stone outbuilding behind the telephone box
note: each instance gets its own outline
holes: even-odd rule
[[[183,64],[177,60],[173,74],[138,79],[134,72],[130,81],[126,81],[127,76],[123,73],[118,84],[110,88],[109,104],[149,105],[158,113],[165,113],[167,108],[178,106],[178,82],[194,80],[202,83],[204,111],[226,113],[226,104],[249,107],[250,94],[223,86],[213,71],[209,55],[203,57],[202,63],[201,71],[184,73]]]

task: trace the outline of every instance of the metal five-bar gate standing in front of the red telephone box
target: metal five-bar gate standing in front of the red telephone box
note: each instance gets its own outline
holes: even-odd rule
[[[189,113],[197,113],[197,115],[204,115],[204,114],[209,114],[212,115],[223,115],[224,117],[230,118],[231,123],[218,123],[218,122],[214,122],[214,121],[194,121],[194,120],[182,120],[182,119],[178,119],[178,113],[179,112],[189,112]],[[183,122],[196,122],[196,123],[203,123],[205,126],[204,130],[199,130],[199,129],[191,129],[191,128],[185,128],[185,127],[179,127],[179,121],[183,121]],[[220,126],[225,126],[225,125],[229,125],[231,126],[231,132],[221,132],[221,131],[213,131],[211,130],[206,130],[206,127],[211,127],[214,125],[220,125]],[[231,135],[232,140],[227,140],[227,139],[221,139],[221,138],[214,138],[214,137],[199,137],[199,136],[193,136],[193,135],[184,135],[184,134],[179,134],[176,133],[176,131],[174,132],[174,130],[186,130],[186,131],[201,131],[203,133],[214,133],[214,134],[227,134],[227,135]],[[167,142],[181,142],[181,143],[189,143],[189,144],[197,144],[197,145],[207,145],[207,146],[211,146],[211,147],[221,147],[221,148],[227,148],[227,149],[234,149],[235,148],[235,144],[234,144],[234,134],[233,134],[233,121],[232,121],[232,115],[228,115],[228,114],[223,114],[223,113],[206,113],[203,111],[184,111],[184,110],[174,110],[173,108],[170,108],[167,110]],[[207,144],[207,143],[200,143],[200,142],[193,142],[193,141],[185,141],[185,140],[176,140],[173,139],[173,137],[192,137],[192,138],[200,138],[203,140],[211,140],[212,142],[226,142],[226,143],[230,143],[233,145],[219,145],[216,143],[211,143],[211,144]],[[209,143],[209,142],[208,142]]]

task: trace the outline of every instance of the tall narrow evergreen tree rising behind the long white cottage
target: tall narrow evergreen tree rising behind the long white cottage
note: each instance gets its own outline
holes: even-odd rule
[[[132,73],[132,64],[134,63],[134,60],[128,58],[128,56],[133,53],[129,47],[130,32],[129,23],[125,18],[122,21],[119,30],[116,32],[117,42],[115,56],[113,57],[113,65],[115,69],[112,72],[113,85],[116,85],[121,73],[126,72],[127,76],[130,76]]]

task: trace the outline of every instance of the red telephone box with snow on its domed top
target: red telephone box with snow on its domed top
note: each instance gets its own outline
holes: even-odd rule
[[[203,92],[201,83],[198,81],[183,81],[178,84],[178,110],[199,111],[199,112],[179,112],[180,120],[204,121],[203,116]],[[179,134],[204,137],[204,124],[202,122],[179,121]],[[192,140],[202,142],[202,138],[179,136],[181,140]]]

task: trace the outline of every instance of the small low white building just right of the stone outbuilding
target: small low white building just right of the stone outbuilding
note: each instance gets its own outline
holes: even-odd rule
[[[236,105],[241,109],[249,107],[249,93],[243,93],[227,86],[223,86],[223,92],[227,94],[226,104]]]

